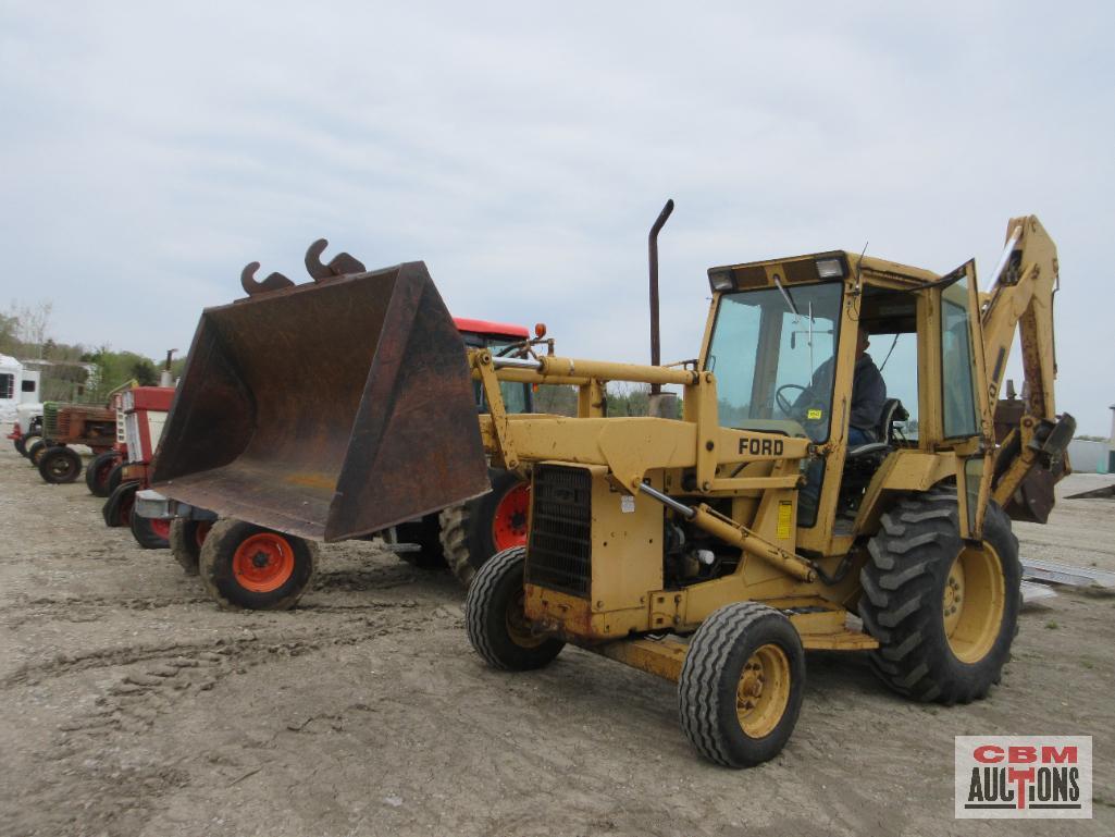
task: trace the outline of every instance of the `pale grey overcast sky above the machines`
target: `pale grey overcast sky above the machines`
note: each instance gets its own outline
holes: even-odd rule
[[[1106,435],[1115,4],[0,0],[0,301],[57,339],[185,350],[239,275],[329,238],[421,259],[460,316],[663,359],[709,266],[828,249],[1060,256],[1058,408]],[[1016,373],[1017,374],[1017,373]]]

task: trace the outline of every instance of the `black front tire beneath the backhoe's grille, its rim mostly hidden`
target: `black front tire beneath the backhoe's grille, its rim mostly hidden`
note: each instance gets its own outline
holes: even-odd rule
[[[562,639],[531,633],[523,613],[525,564],[525,547],[496,552],[476,573],[465,596],[468,641],[493,668],[541,668],[565,646]]]

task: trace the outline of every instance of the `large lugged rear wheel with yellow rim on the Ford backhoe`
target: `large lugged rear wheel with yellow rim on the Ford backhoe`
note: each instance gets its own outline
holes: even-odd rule
[[[918,701],[968,703],[1002,676],[1018,629],[1021,565],[1010,519],[988,503],[983,545],[960,539],[953,490],[908,498],[883,514],[860,579],[872,667]]]

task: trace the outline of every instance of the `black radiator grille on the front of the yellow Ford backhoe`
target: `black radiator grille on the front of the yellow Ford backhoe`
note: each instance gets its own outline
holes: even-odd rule
[[[526,581],[586,598],[592,583],[592,480],[580,468],[542,465],[531,491]]]

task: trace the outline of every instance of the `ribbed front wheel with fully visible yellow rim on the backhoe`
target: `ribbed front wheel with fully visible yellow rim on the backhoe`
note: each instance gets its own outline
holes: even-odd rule
[[[760,764],[786,745],[805,696],[805,651],[784,614],[758,602],[712,613],[689,643],[678,712],[709,761]]]

